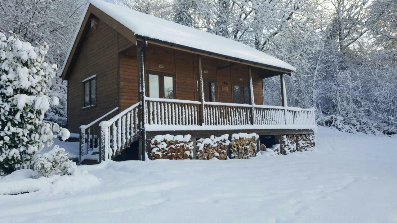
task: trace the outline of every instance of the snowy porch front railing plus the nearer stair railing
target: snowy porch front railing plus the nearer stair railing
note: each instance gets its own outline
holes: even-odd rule
[[[268,125],[272,128],[299,126],[311,129],[316,125],[314,109],[204,102],[202,115],[202,104],[197,101],[145,98],[145,103],[146,128],[161,125],[194,131],[199,126],[207,126],[207,129],[210,126],[228,128],[251,125],[252,129],[260,129]],[[114,158],[139,138],[139,109],[137,103],[112,119],[100,122],[100,161]],[[204,117],[203,120],[200,117]]]

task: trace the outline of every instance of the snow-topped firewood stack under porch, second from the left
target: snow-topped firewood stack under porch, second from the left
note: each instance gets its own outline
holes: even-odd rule
[[[200,138],[197,140],[197,159],[211,160],[217,158],[218,160],[227,159],[227,147],[230,141],[229,135],[225,134],[220,137],[211,136],[210,138]]]

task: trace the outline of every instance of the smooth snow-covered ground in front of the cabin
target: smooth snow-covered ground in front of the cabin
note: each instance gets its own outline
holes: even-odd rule
[[[397,222],[396,160],[396,136],[319,128],[313,152],[80,166],[62,183],[0,195],[0,221]]]

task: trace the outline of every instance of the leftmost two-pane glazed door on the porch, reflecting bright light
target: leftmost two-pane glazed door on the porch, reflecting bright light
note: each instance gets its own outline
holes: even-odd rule
[[[148,96],[151,98],[176,98],[175,75],[148,71]]]

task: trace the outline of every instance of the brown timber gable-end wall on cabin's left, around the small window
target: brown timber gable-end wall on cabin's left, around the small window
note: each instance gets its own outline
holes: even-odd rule
[[[118,106],[117,32],[98,19],[96,30],[87,29],[76,51],[68,81],[68,129],[79,132],[80,125]],[[83,109],[83,81],[96,75],[96,106]]]

